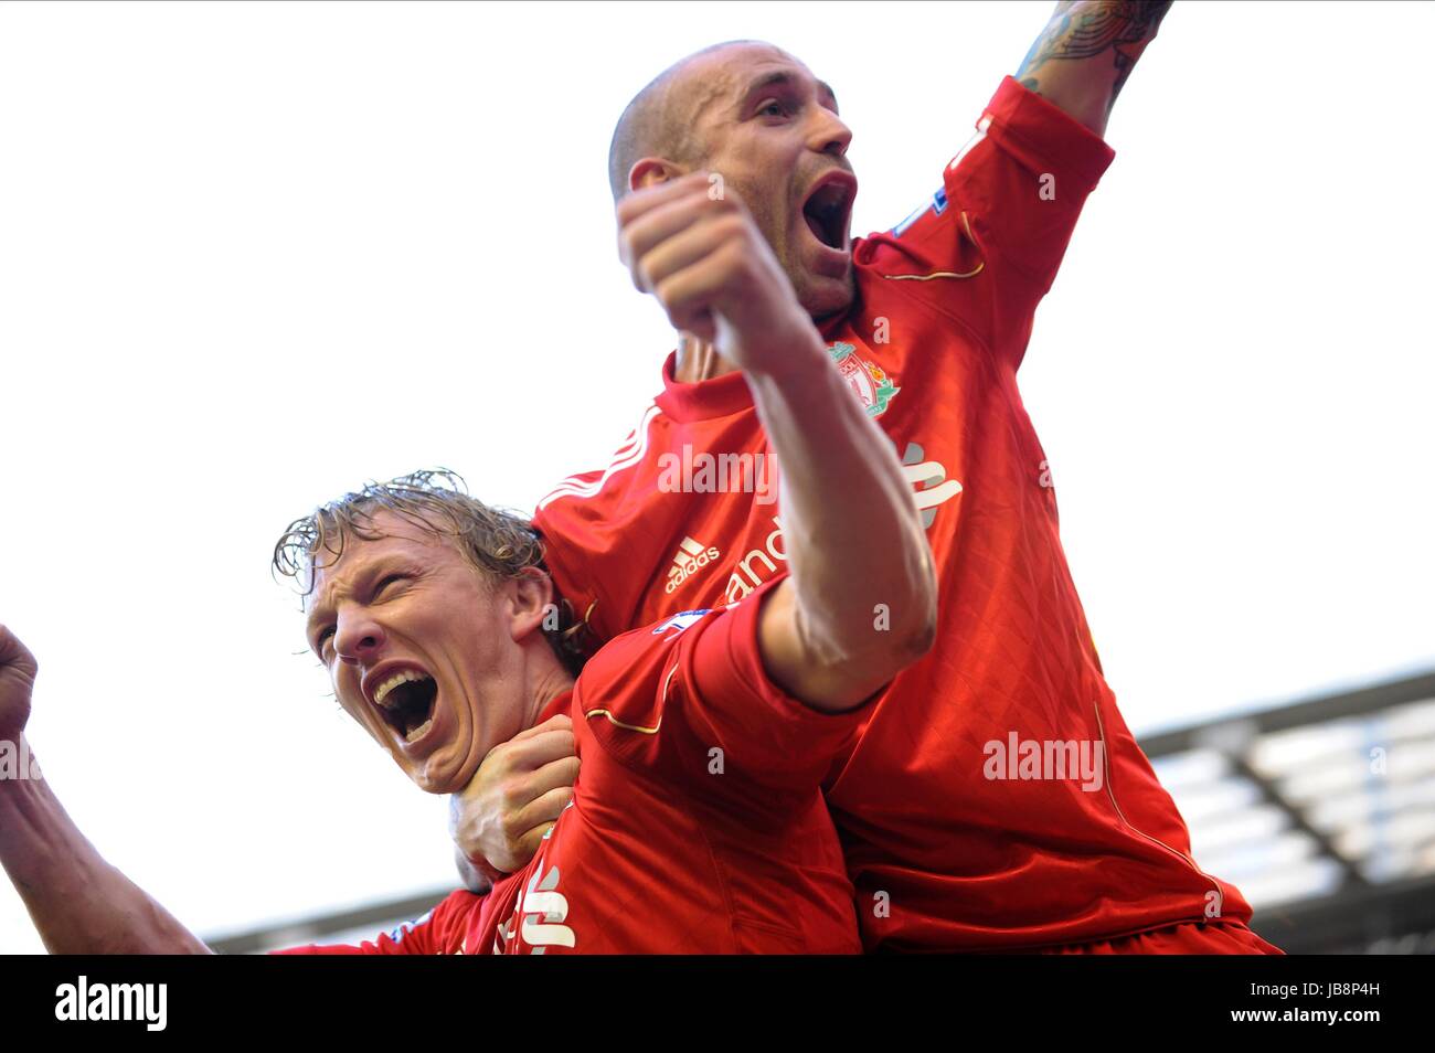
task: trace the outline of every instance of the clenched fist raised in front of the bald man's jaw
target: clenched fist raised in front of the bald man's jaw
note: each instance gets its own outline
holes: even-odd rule
[[[743,370],[782,373],[822,339],[772,247],[732,189],[692,172],[617,207],[618,255],[674,329],[716,344]]]

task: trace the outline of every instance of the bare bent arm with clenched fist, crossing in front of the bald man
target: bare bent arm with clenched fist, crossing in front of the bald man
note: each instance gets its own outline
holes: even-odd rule
[[[842,382],[748,209],[706,172],[618,205],[624,261],[679,330],[743,370],[781,481],[789,577],[768,600],[763,666],[817,709],[851,709],[921,657],[936,574],[891,442]]]

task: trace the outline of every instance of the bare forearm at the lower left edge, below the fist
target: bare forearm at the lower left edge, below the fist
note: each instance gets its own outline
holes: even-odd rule
[[[110,867],[43,779],[0,780],[0,864],[52,954],[205,954]]]

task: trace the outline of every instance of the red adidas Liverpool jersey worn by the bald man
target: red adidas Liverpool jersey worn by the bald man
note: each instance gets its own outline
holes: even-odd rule
[[[1012,950],[1250,917],[1192,861],[1116,710],[1017,393],[1036,304],[1114,156],[1006,77],[931,204],[854,242],[857,300],[822,329],[905,465],[941,590],[936,647],[825,783],[868,948]],[[676,383],[673,362],[613,463],[535,515],[598,640],[738,601],[786,559],[746,382]]]

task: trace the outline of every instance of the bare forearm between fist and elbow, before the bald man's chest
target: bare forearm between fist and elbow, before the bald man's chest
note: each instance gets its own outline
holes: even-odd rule
[[[748,384],[778,466],[798,630],[819,664],[870,667],[870,693],[930,646],[931,551],[893,443],[817,334],[788,362]]]

